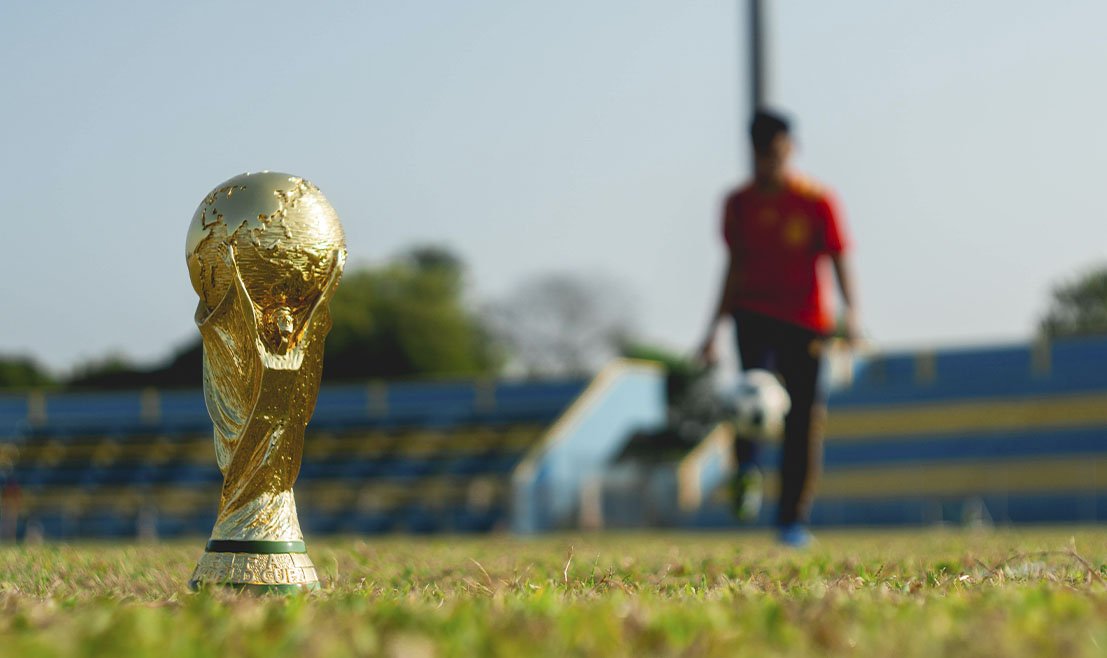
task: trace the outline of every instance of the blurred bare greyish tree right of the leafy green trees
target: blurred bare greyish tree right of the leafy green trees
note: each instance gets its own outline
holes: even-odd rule
[[[589,374],[632,333],[629,296],[601,277],[547,274],[490,305],[489,322],[527,374]]]

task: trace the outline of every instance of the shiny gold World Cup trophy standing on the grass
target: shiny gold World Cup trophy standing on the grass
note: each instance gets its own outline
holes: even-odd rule
[[[199,295],[204,400],[223,472],[219,512],[189,586],[315,589],[292,485],[315,407],[328,302],[345,236],[319,188],[242,174],[193,215],[186,256]]]

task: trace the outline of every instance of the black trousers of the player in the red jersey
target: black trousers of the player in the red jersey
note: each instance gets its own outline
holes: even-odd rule
[[[734,313],[743,370],[762,368],[784,378],[792,411],[784,423],[780,452],[780,504],[777,523],[806,522],[823,467],[826,404],[818,388],[823,335],[810,329],[738,310]],[[738,463],[756,463],[756,445],[737,441]]]

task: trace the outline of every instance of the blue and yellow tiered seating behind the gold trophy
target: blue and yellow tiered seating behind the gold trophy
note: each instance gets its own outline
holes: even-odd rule
[[[296,486],[304,533],[486,532],[508,476],[586,385],[435,382],[324,388]],[[0,398],[0,471],[19,533],[204,535],[221,475],[199,391]]]

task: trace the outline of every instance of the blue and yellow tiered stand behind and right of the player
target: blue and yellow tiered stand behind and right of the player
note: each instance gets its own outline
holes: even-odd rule
[[[815,524],[1107,518],[1105,338],[884,354],[829,407]],[[718,472],[684,524],[735,524]]]

